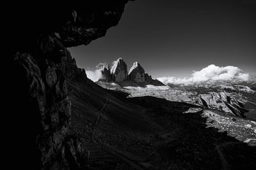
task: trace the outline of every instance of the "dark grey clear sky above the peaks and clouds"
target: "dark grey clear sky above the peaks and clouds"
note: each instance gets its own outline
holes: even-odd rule
[[[78,67],[122,57],[153,78],[189,77],[214,64],[256,76],[256,3],[253,0],[137,0],[118,25],[89,45],[68,48]]]

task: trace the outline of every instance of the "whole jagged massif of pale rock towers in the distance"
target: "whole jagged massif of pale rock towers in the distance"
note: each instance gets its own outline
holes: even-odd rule
[[[117,59],[113,62],[113,66],[110,69],[110,65],[106,64],[101,69],[102,78],[99,81],[113,81],[122,86],[124,85],[164,85],[161,81],[154,80],[148,73],[145,73],[143,67],[138,63],[134,62],[129,74],[127,72],[127,65],[122,58]],[[98,83],[99,85],[101,83]]]

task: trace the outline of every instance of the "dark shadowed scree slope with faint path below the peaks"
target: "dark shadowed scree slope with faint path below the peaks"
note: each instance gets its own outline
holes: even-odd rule
[[[107,90],[92,82],[87,86],[69,82],[68,87],[70,133],[75,132],[83,141],[88,169],[256,167],[256,125],[252,120],[163,96],[131,97],[138,94],[131,93],[131,88],[125,92]],[[143,92],[166,90],[150,88],[154,90]],[[173,96],[195,95],[178,94]]]

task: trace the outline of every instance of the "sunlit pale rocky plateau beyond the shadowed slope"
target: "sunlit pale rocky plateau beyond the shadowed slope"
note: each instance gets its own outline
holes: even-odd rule
[[[202,116],[207,118],[209,127],[216,127],[221,132],[227,131],[228,135],[239,141],[256,146],[256,104],[254,103],[256,92],[243,85],[206,87],[186,87],[178,90],[177,88],[148,86],[147,88],[124,87],[123,90],[129,92],[130,97],[155,96],[168,101],[202,106],[204,108]],[[190,113],[193,112],[195,111],[190,111]],[[248,112],[250,114],[246,114]]]

